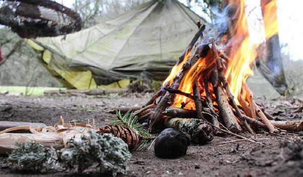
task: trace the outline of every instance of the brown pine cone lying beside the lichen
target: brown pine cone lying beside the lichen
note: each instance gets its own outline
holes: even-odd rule
[[[140,141],[140,137],[132,129],[121,125],[107,125],[102,129],[102,132],[121,138],[127,143],[129,151],[135,149]]]

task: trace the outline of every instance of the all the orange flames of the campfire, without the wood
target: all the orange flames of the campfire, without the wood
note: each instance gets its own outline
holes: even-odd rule
[[[269,38],[278,33],[277,18],[276,16],[273,18],[273,13],[276,15],[277,8],[275,0],[264,1],[267,3],[262,4],[263,17],[266,37]],[[231,39],[226,45],[226,50],[230,51],[227,52],[230,60],[226,68],[225,78],[228,82],[230,92],[238,103],[237,98],[241,93],[242,84],[245,83],[246,79],[253,74],[250,66],[257,58],[257,48],[262,41],[256,42],[256,40],[252,40],[249,35],[244,0],[230,0],[229,5],[236,9],[234,11],[234,17],[231,19]],[[226,36],[223,36],[222,38],[224,37]],[[184,63],[190,58],[190,51],[186,51],[183,61],[173,67],[170,75],[164,81],[165,86],[173,83],[173,79],[177,76]],[[199,58],[195,65],[192,66],[182,78],[178,89],[182,92],[192,94],[192,85],[195,77],[197,77],[198,80],[204,80],[208,77],[215,67],[216,59],[217,56],[212,53],[212,50],[210,50],[205,57]],[[199,82],[200,96],[206,95],[205,90],[202,89],[203,87],[204,83]],[[211,90],[211,97],[215,98],[212,85],[210,84],[209,87]],[[245,95],[244,92],[243,95]],[[214,104],[216,105],[215,102]],[[176,95],[173,106],[181,107],[182,105],[186,109],[195,109],[193,100],[182,95]]]

